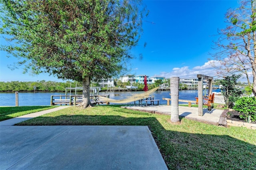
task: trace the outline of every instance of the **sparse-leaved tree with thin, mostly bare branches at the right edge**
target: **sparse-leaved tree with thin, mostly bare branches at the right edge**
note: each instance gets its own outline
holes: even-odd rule
[[[226,13],[227,27],[221,29],[214,57],[220,61],[218,73],[244,74],[256,97],[256,0],[242,0]],[[252,84],[250,82],[252,77]]]

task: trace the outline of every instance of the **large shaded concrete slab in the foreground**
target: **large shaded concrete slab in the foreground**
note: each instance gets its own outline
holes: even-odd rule
[[[0,169],[167,169],[147,126],[0,128]]]

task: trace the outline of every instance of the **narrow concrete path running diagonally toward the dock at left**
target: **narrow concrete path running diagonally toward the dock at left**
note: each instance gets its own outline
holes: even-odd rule
[[[5,120],[5,121],[0,121],[0,126],[15,125],[16,123],[20,123],[20,122],[26,121],[28,119],[32,119],[34,117],[38,117],[38,116],[41,116],[41,115],[44,115],[44,114],[47,114],[47,113],[51,113],[51,112],[54,112],[54,111],[59,111],[61,109],[65,109],[67,107],[70,107],[70,106],[55,107],[55,108],[48,109],[48,110],[45,110],[45,111],[40,111],[40,112],[36,112],[36,113],[30,113],[28,115],[23,115],[23,116],[12,118],[12,119],[8,119],[8,120]]]

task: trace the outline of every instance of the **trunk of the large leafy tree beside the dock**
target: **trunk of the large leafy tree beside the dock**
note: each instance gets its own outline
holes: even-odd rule
[[[90,101],[90,77],[85,77],[82,81],[83,85],[83,99],[80,107],[86,108],[93,106]]]

